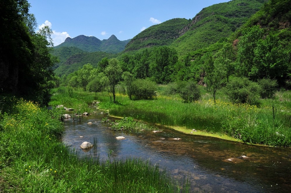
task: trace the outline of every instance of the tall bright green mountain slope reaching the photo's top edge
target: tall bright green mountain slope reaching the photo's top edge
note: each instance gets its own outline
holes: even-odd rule
[[[256,13],[264,0],[233,0],[202,9],[185,34],[172,43],[179,55],[186,55],[223,40]]]

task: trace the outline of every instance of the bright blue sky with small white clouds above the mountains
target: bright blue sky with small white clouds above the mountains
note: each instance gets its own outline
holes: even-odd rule
[[[28,0],[38,29],[48,25],[54,46],[67,37],[115,35],[128,40],[173,18],[192,19],[203,8],[230,0]],[[37,29],[37,30],[38,30]]]

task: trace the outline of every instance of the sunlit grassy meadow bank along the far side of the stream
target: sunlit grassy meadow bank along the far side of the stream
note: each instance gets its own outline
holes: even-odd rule
[[[129,100],[118,94],[112,104],[106,93],[97,93],[102,109],[115,116],[133,118],[169,126],[227,134],[252,144],[291,146],[291,92],[278,91],[275,99],[262,99],[260,106],[233,104],[223,93],[214,102],[203,88],[201,100],[183,103],[176,95],[164,95],[160,88],[153,100]],[[92,94],[93,95],[93,94]],[[95,95],[95,94],[94,94]]]

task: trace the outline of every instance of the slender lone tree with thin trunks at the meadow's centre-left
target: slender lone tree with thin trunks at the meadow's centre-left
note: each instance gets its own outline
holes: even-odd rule
[[[116,87],[120,82],[122,75],[120,62],[116,58],[108,60],[108,66],[106,66],[104,73],[108,78],[108,93],[110,96],[110,100],[112,102],[113,97],[113,103],[116,103],[115,100]]]

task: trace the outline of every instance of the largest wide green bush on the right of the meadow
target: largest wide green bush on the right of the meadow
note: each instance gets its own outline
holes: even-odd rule
[[[260,86],[245,77],[234,77],[225,87],[225,93],[234,103],[255,105],[260,97]]]

